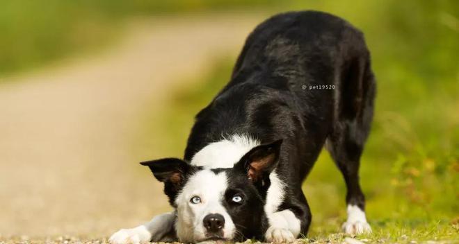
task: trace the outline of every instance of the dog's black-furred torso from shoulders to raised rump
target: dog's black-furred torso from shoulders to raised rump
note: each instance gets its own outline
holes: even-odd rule
[[[185,159],[222,134],[262,143],[302,137],[304,177],[341,123],[369,125],[375,87],[363,35],[351,24],[316,11],[275,15],[249,35],[230,82],[196,116]]]

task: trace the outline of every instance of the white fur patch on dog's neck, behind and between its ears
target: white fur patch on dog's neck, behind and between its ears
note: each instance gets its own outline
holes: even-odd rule
[[[234,134],[205,146],[193,156],[191,164],[204,168],[232,168],[259,141],[246,135]]]

